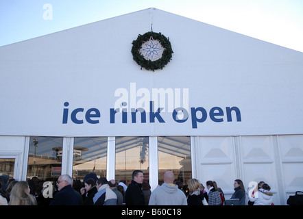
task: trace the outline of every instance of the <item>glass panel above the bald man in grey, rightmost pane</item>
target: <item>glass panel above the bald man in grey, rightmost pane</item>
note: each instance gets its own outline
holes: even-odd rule
[[[191,179],[191,138],[158,137],[158,169],[159,185],[167,170],[173,171],[176,181],[186,184]]]

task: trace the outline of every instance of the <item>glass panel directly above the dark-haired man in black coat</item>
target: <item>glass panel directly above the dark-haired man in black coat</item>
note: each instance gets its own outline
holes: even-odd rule
[[[132,181],[132,171],[142,170],[144,179],[149,180],[148,137],[116,137],[117,181]]]

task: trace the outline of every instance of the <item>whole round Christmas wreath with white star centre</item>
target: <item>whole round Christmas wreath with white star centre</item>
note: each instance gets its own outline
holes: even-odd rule
[[[169,38],[149,31],[132,41],[134,61],[146,70],[162,69],[171,60],[173,50]]]

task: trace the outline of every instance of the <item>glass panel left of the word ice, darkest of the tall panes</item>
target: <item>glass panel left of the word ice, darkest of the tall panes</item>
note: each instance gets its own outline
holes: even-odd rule
[[[56,182],[61,175],[63,138],[31,137],[27,179]]]

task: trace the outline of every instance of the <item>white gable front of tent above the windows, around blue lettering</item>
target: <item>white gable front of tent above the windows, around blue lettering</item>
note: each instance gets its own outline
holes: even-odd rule
[[[155,72],[141,70],[131,53],[132,42],[151,28],[167,36],[173,49],[172,60]],[[149,8],[0,47],[0,93],[5,94],[0,96],[0,135],[303,133],[302,60],[298,51]],[[126,90],[128,107],[137,108],[143,97],[138,90],[146,91],[148,99],[154,88],[171,89],[175,96],[178,89],[181,94],[187,89],[189,119],[176,123],[172,112],[161,112],[165,123],[152,123],[148,115],[147,123],[132,123],[129,115],[125,125],[117,114],[110,123],[119,91]],[[226,107],[234,106],[241,110],[241,122],[226,118]],[[192,107],[208,113],[197,128]],[[222,122],[211,120],[213,107],[223,110]],[[82,125],[73,123],[70,114],[77,108],[98,109],[98,125],[86,123],[85,112],[77,114]],[[67,124],[62,123],[63,109],[69,110]]]

